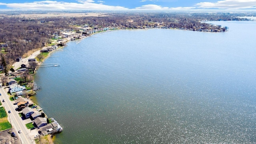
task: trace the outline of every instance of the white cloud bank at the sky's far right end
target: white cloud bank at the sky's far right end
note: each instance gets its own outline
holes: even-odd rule
[[[217,2],[200,2],[198,8],[246,9],[256,8],[256,0],[221,0]]]

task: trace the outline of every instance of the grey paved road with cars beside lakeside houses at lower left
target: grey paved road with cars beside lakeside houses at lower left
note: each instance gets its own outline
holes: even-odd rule
[[[2,102],[2,104],[4,105],[4,108],[8,114],[8,120],[12,124],[12,127],[16,130],[16,135],[20,137],[22,144],[35,144],[34,140],[30,137],[30,130],[26,128],[18,112],[15,110],[17,105],[13,105],[4,88],[0,88],[0,93],[2,94],[0,96],[0,100],[5,100],[5,102]],[[10,114],[8,113],[8,110],[11,111]],[[18,130],[21,130],[20,134],[18,133]]]

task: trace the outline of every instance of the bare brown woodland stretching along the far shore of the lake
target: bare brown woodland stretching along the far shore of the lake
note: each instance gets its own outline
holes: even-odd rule
[[[19,15],[15,12],[11,15]],[[201,28],[226,30],[227,27],[212,26],[202,20],[246,20],[238,18],[238,13],[191,13],[191,12],[120,12],[108,13],[100,17],[47,17],[47,18],[20,18],[0,17],[0,43],[8,44],[0,54],[1,64],[12,64],[19,56],[29,50],[46,46],[54,33],[61,30],[79,29],[75,25],[87,24],[92,28],[117,26],[119,28]],[[43,21],[43,22],[42,22]]]

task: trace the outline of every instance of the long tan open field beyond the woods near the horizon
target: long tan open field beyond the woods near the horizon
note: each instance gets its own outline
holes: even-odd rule
[[[56,16],[68,16],[68,17],[82,17],[82,16],[106,16],[104,13],[48,13],[48,14],[20,14],[17,17],[56,17]]]

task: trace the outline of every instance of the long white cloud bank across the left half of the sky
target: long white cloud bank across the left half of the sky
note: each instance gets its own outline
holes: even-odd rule
[[[51,0],[45,0],[40,2],[26,2],[26,3],[11,3],[5,4],[0,3],[0,5],[5,5],[8,8],[18,8],[26,10],[127,10],[128,8],[122,6],[108,6],[104,4],[96,4],[93,0],[78,0],[76,2],[57,2]]]

